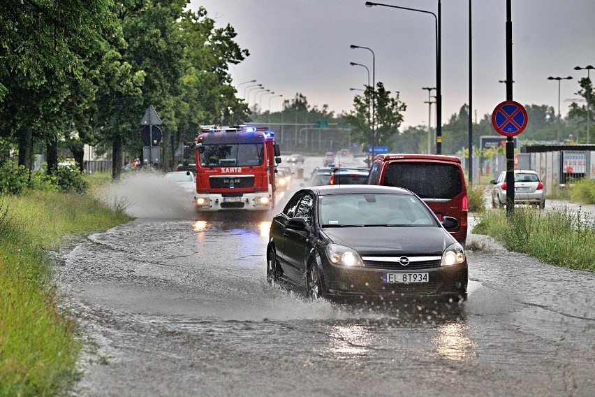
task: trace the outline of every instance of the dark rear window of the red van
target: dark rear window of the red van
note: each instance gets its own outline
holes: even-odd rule
[[[398,161],[388,164],[383,185],[404,187],[421,198],[453,198],[462,192],[462,175],[451,164],[419,164]]]

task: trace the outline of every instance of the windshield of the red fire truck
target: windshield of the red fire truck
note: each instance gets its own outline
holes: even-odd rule
[[[258,143],[231,143],[225,145],[202,145],[200,166],[260,166],[263,164],[264,145]]]

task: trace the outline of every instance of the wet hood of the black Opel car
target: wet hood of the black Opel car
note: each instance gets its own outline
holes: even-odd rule
[[[332,243],[351,247],[360,255],[441,255],[455,239],[439,227],[333,227],[324,233]]]

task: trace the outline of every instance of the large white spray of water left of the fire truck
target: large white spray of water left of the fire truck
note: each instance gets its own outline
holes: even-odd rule
[[[194,219],[193,196],[159,171],[125,173],[100,193],[108,205],[125,208],[128,215],[152,219]]]

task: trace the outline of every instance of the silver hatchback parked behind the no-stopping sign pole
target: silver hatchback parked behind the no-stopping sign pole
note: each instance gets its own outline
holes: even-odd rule
[[[506,171],[502,171],[497,180],[491,180],[492,206],[506,205]],[[538,173],[530,170],[515,170],[515,204],[533,204],[545,208],[545,187]]]

